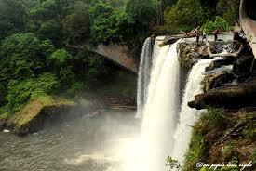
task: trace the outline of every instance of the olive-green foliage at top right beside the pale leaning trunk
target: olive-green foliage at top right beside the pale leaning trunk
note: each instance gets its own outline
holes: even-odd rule
[[[217,11],[230,24],[235,24],[239,19],[240,0],[219,0]]]

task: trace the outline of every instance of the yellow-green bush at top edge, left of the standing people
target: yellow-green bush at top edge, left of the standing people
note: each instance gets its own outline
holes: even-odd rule
[[[202,22],[203,11],[199,0],[179,0],[176,5],[166,8],[164,18],[172,31],[185,26],[195,28]]]

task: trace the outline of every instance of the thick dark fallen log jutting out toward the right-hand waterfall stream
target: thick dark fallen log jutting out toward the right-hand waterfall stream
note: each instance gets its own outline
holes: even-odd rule
[[[239,109],[256,106],[256,80],[239,85],[232,85],[212,89],[207,93],[195,96],[195,100],[188,102],[190,108],[197,110],[208,106],[225,109]]]

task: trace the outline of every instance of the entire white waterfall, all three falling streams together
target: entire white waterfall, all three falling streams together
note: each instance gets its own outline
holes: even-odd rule
[[[157,37],[156,40],[163,40]],[[141,117],[141,164],[136,171],[167,171],[167,157],[181,164],[189,146],[192,128],[200,111],[187,106],[201,93],[205,67],[214,59],[199,60],[190,71],[182,101],[177,45],[159,47],[146,39],[138,78],[138,112]]]

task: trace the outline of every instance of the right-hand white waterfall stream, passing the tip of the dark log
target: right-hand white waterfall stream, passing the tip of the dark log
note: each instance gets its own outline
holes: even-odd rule
[[[182,108],[179,115],[179,124],[173,135],[174,146],[170,156],[178,160],[181,164],[184,162],[184,155],[189,147],[192,134],[192,126],[203,111],[197,111],[189,108],[187,103],[195,98],[195,95],[202,93],[201,82],[204,79],[205,68],[215,59],[201,59],[192,68],[189,73],[187,84],[182,98]]]

